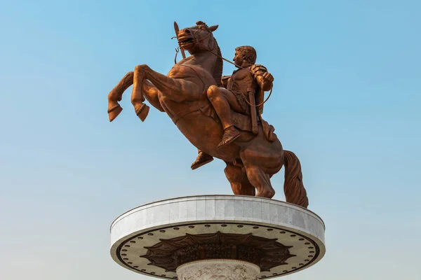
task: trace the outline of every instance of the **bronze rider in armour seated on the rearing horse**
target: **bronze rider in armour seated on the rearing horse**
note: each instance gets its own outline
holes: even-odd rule
[[[239,130],[234,126],[231,110],[250,116],[250,111],[255,110],[248,103],[249,93],[255,94],[255,104],[263,101],[263,92],[272,88],[274,77],[267,72],[265,66],[255,64],[256,51],[253,47],[244,45],[236,48],[234,63],[238,68],[232,76],[221,78],[222,86],[211,85],[208,90],[208,98],[215,109],[224,134],[218,148],[225,146],[240,136]],[[262,113],[263,106],[258,107]],[[213,157],[199,150],[196,161],[192,164],[192,169],[196,169],[213,160]]]

